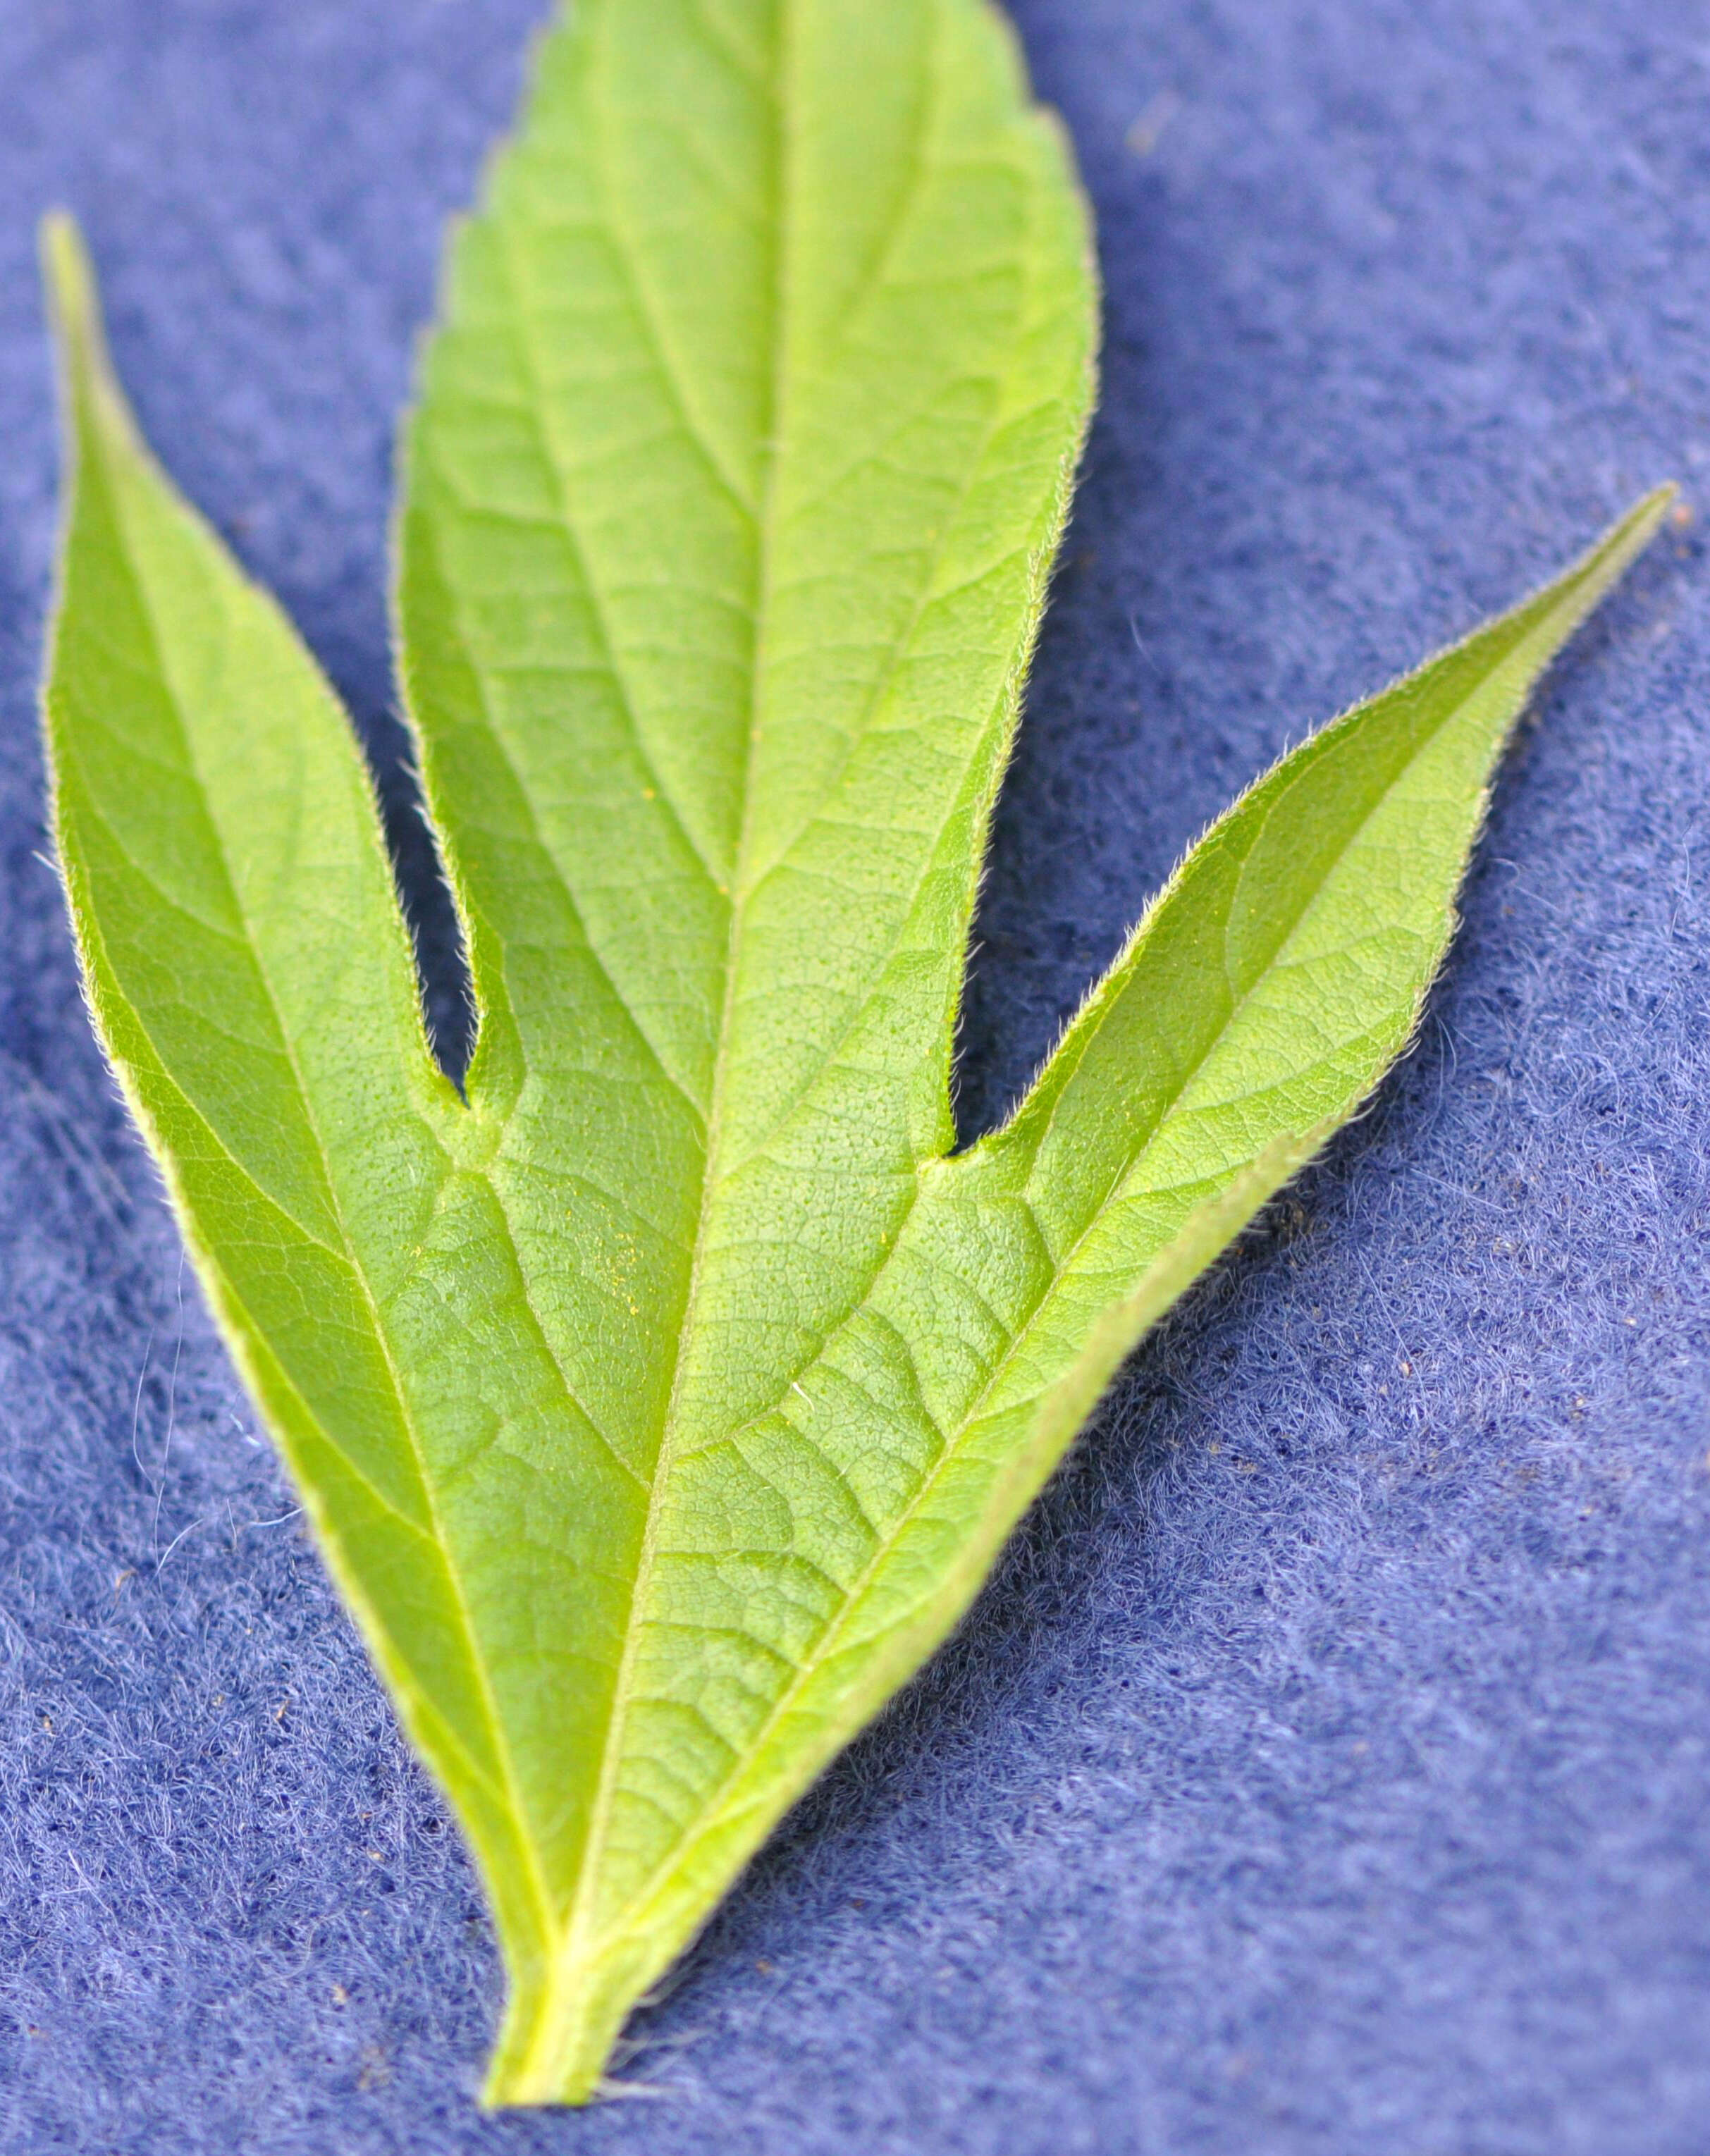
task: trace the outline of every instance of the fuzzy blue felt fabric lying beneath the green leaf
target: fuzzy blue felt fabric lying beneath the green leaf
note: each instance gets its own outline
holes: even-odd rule
[[[470,1869],[282,1518],[39,858],[30,226],[86,218],[155,442],[395,757],[392,420],[533,15],[0,9],[0,2145],[1701,2156],[1691,533],[1542,696],[1417,1052],[645,2018],[656,2098],[474,2111]],[[1098,203],[1108,364],[975,1123],[1283,742],[1710,464],[1699,0],[1020,15]]]

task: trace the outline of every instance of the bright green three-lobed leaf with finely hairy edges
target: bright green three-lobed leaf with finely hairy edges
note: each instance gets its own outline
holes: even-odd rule
[[[1067,151],[977,0],[584,0],[408,438],[459,1095],[351,731],[142,448],[63,222],[47,267],[95,1022],[481,1863],[489,2100],[578,2102],[1123,1354],[1406,1046],[1503,737],[1667,494],[1279,763],[955,1153],[1091,397]]]

